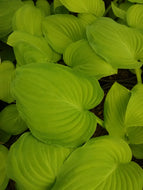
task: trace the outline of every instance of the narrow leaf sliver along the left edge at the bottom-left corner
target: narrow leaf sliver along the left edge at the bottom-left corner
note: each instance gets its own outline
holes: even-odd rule
[[[8,184],[8,177],[6,173],[8,149],[0,144],[0,190],[5,190]]]

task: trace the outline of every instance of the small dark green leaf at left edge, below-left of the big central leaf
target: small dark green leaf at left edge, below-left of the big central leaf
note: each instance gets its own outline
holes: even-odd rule
[[[18,135],[26,129],[27,125],[19,116],[15,104],[8,105],[0,112],[0,130],[11,135]]]

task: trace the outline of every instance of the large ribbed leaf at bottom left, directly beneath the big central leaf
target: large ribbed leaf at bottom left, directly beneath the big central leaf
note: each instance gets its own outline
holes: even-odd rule
[[[8,176],[20,190],[50,190],[71,151],[62,146],[42,143],[30,132],[24,133],[10,148]]]

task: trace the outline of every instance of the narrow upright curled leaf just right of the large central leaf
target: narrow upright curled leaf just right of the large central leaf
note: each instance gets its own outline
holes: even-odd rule
[[[104,125],[112,136],[125,135],[124,118],[131,93],[125,87],[114,83],[104,103]]]

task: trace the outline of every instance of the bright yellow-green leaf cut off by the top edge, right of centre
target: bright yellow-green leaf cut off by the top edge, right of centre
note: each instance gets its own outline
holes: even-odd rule
[[[92,13],[103,16],[105,4],[103,0],[60,0],[68,10],[77,13]]]

